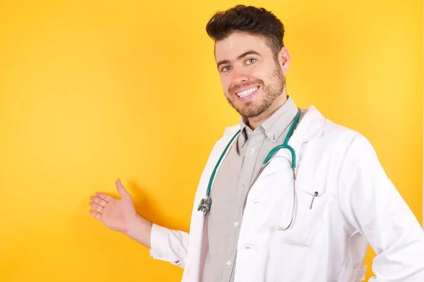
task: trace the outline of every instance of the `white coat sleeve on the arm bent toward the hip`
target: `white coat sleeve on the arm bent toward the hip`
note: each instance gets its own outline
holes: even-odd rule
[[[365,137],[355,137],[340,169],[341,211],[377,255],[372,263],[375,276],[369,281],[424,281],[423,228]]]

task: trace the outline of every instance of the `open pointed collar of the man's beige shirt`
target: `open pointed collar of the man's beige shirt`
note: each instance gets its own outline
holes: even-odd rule
[[[296,114],[298,114],[298,107],[291,96],[288,96],[287,101],[255,130],[252,130],[249,126],[247,126],[246,118],[241,117],[240,130],[242,134],[240,135],[240,145],[243,145],[245,140],[252,136],[252,134],[260,132],[265,134],[271,142],[275,143],[293,121]]]

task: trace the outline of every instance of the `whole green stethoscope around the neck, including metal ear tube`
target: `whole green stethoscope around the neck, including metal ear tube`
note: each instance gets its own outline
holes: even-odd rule
[[[288,130],[287,136],[285,137],[285,140],[283,142],[283,145],[278,145],[278,146],[274,147],[273,149],[271,149],[271,151],[269,151],[268,155],[264,159],[264,162],[262,163],[261,169],[260,169],[259,173],[257,174],[257,177],[253,181],[253,183],[254,183],[257,180],[258,176],[261,174],[261,172],[264,170],[264,168],[271,161],[271,157],[273,156],[273,154],[275,152],[277,152],[279,149],[288,149],[290,151],[290,155],[291,155],[291,164],[290,164],[290,166],[291,166],[292,171],[293,171],[293,209],[292,209],[292,213],[291,213],[290,221],[288,222],[288,225],[285,226],[285,227],[281,227],[281,226],[278,225],[278,226],[276,226],[276,229],[277,230],[286,230],[286,229],[288,229],[292,225],[293,219],[294,219],[295,204],[296,204],[296,191],[295,191],[296,154],[295,154],[295,150],[292,147],[290,147],[290,145],[288,145],[288,141],[290,140],[290,137],[293,135],[293,131],[295,130],[295,127],[296,127],[296,125],[299,122],[299,119],[300,119],[300,115],[301,114],[302,114],[302,111],[300,111],[300,109],[298,109],[298,114],[296,114],[295,118],[293,119],[292,125],[290,125],[290,128]],[[234,141],[235,137],[237,137],[237,135],[239,135],[240,132],[241,132],[241,130],[238,130],[237,133],[235,133],[235,135],[232,136],[230,142],[228,142],[228,145],[225,147],[223,153],[220,155],[220,158],[216,162],[215,168],[213,168],[213,171],[212,171],[212,174],[211,174],[211,178],[209,178],[208,188],[206,189],[206,197],[204,197],[200,201],[199,207],[197,208],[197,211],[203,212],[204,213],[204,216],[206,216],[211,211],[211,205],[212,205],[211,187],[212,187],[213,179],[215,178],[215,175],[216,175],[216,171],[218,170],[218,166],[220,165],[223,157],[225,156],[225,153],[228,151],[228,148],[230,147],[230,145],[232,145],[232,142]]]

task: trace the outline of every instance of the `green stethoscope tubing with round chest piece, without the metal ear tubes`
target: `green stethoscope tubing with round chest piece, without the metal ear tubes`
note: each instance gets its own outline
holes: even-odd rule
[[[300,109],[298,109],[298,114],[296,114],[295,118],[293,119],[292,125],[290,125],[290,128],[288,130],[287,136],[285,136],[285,140],[283,142],[283,145],[278,145],[276,147],[273,147],[273,149],[271,149],[271,151],[269,151],[268,155],[264,159],[263,166],[266,166],[266,164],[268,164],[269,161],[271,161],[271,157],[279,149],[288,149],[290,151],[291,159],[292,159],[292,161],[291,161],[291,168],[293,170],[296,168],[296,154],[295,154],[295,150],[288,145],[288,141],[290,140],[290,137],[293,135],[293,131],[295,130],[295,127],[296,127],[296,125],[299,122],[299,119],[300,119],[300,115],[301,114],[302,114],[302,111],[300,111]],[[197,211],[200,211],[203,208],[202,211],[204,212],[204,216],[206,216],[206,214],[208,214],[209,210],[211,209],[211,205],[212,205],[211,187],[212,187],[213,179],[215,178],[215,175],[216,175],[216,171],[218,170],[218,166],[220,165],[220,162],[222,161],[223,157],[225,156],[225,153],[227,152],[228,148],[230,147],[230,145],[232,145],[232,142],[234,141],[235,137],[237,137],[237,135],[239,135],[240,132],[241,132],[241,130],[239,129],[239,130],[237,130],[237,133],[235,133],[235,135],[232,136],[230,142],[228,142],[228,144],[225,147],[223,153],[220,155],[220,158],[216,162],[215,168],[213,168],[213,171],[212,171],[212,174],[211,174],[211,178],[209,178],[208,188],[206,189],[206,198],[203,198],[200,201],[199,207],[197,208]]]

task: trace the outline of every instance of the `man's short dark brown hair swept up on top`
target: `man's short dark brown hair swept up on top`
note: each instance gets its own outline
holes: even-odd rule
[[[259,35],[265,38],[275,57],[284,46],[283,23],[271,11],[254,6],[237,5],[227,11],[218,11],[206,24],[206,32],[215,42],[232,32]]]

